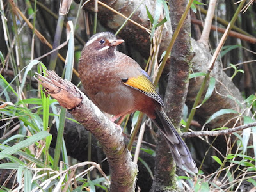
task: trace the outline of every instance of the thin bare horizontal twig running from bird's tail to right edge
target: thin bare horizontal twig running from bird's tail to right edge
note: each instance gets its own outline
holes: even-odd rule
[[[182,138],[193,138],[193,137],[200,137],[200,136],[219,136],[219,135],[225,135],[225,134],[232,134],[236,131],[243,131],[246,128],[255,127],[256,122],[252,124],[246,124],[241,125],[238,127],[220,130],[220,131],[197,131],[197,132],[184,132],[181,136]]]

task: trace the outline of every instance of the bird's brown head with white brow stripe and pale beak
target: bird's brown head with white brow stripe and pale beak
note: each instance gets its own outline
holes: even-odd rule
[[[116,45],[122,44],[124,40],[116,39],[116,36],[110,32],[96,33],[86,43],[86,48],[96,51],[97,54],[108,53],[115,54]]]

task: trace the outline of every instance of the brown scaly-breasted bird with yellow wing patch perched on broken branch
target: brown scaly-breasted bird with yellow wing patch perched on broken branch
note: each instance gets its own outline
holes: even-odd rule
[[[101,111],[116,118],[135,111],[145,113],[164,135],[177,166],[198,173],[150,76],[131,57],[116,51],[122,42],[111,32],[96,33],[86,42],[78,66],[84,92]]]

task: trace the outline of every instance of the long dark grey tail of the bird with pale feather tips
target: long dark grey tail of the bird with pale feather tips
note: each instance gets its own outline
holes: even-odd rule
[[[198,173],[196,163],[193,160],[187,145],[180,138],[174,125],[164,113],[163,109],[156,109],[156,118],[153,120],[158,129],[163,133],[166,142],[172,152],[175,163],[182,168],[186,167],[191,172]]]

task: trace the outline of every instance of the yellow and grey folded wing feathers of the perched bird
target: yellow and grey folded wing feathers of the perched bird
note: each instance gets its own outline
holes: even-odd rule
[[[161,99],[159,93],[156,90],[156,86],[152,83],[151,78],[148,76],[147,72],[141,70],[141,75],[138,77],[131,77],[122,79],[122,82],[140,92],[144,93],[148,97],[156,100],[162,107],[164,106],[163,100]]]

